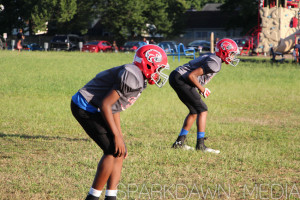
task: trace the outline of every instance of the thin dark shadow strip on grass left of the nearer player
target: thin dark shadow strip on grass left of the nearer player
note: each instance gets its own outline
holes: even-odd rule
[[[43,140],[65,140],[65,141],[89,141],[87,138],[68,138],[60,136],[47,136],[47,135],[25,135],[25,134],[5,134],[0,132],[0,138],[15,137],[28,140],[43,139]]]

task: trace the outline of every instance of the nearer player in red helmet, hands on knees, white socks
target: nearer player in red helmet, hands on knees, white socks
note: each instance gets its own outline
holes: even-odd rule
[[[164,69],[169,65],[163,49],[145,45],[136,51],[132,64],[100,72],[72,97],[73,116],[104,153],[86,200],[99,199],[105,184],[105,199],[116,199],[127,156],[120,112],[138,99],[147,83],[162,87],[168,80]]]

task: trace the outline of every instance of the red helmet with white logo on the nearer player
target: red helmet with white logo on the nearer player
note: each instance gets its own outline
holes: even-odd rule
[[[140,47],[135,53],[133,63],[140,68],[151,85],[162,87],[169,78],[162,73],[164,69],[169,69],[167,54],[157,45]]]

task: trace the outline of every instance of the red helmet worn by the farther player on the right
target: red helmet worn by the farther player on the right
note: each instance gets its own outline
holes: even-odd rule
[[[237,66],[240,59],[236,56],[239,54],[239,48],[232,39],[222,39],[216,44],[216,55],[219,56],[226,64]]]

